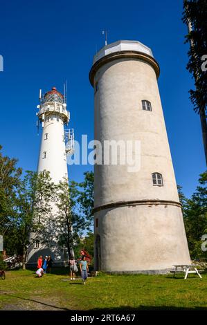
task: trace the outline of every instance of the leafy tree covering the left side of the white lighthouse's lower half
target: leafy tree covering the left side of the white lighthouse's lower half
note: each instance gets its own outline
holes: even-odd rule
[[[26,268],[26,255],[30,245],[38,239],[39,243],[49,243],[55,185],[48,171],[35,173],[27,171],[17,188],[15,199],[17,223],[13,241],[19,247],[23,257],[23,269]],[[31,235],[32,234],[32,235]]]

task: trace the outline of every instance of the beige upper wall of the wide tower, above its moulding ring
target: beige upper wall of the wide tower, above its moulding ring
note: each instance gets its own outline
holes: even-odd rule
[[[141,170],[97,165],[95,206],[145,198],[179,201],[154,69],[138,60],[118,60],[102,66],[97,81],[95,139],[141,140]],[[142,100],[151,102],[152,111],[142,109]],[[164,187],[152,185],[156,171]]]

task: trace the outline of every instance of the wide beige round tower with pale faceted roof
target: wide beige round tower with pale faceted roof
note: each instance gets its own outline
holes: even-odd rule
[[[93,58],[95,140],[102,147],[105,140],[141,143],[139,171],[95,165],[98,270],[160,273],[190,263],[159,73],[152,51],[139,41],[116,41]]]

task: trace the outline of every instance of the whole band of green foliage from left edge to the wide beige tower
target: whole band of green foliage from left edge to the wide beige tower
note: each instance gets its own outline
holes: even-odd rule
[[[3,156],[0,146],[0,234],[6,252],[23,255],[24,262],[35,240],[51,248],[58,242],[70,252],[91,225],[93,173],[84,173],[80,184],[64,180],[54,185],[48,171],[26,171],[22,176],[16,165],[16,159]]]

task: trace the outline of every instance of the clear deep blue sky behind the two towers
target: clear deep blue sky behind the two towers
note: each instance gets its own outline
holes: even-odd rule
[[[174,1],[1,1],[0,72],[3,153],[19,158],[24,169],[37,168],[40,136],[36,106],[39,88],[68,81],[70,127],[75,139],[93,139],[93,89],[89,70],[96,49],[119,39],[141,41],[152,48],[161,67],[159,90],[177,183],[190,196],[206,169],[199,116],[192,110],[186,71],[188,44],[181,21],[182,0]],[[72,166],[70,178],[80,181],[91,166]]]

